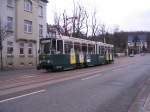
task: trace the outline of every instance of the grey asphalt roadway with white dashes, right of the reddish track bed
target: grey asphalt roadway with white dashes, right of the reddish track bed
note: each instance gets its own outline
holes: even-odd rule
[[[133,58],[122,68],[0,98],[0,112],[128,112],[150,76],[150,56]]]

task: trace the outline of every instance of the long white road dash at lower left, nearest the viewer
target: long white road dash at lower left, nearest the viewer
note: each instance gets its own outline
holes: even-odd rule
[[[42,92],[45,92],[45,91],[46,90],[43,89],[43,90],[40,90],[40,91],[35,91],[35,92],[32,92],[32,93],[28,93],[28,94],[24,94],[24,95],[20,95],[20,96],[16,96],[16,97],[8,98],[8,99],[5,99],[5,100],[1,100],[0,103],[7,102],[7,101],[10,101],[10,100],[19,99],[19,98],[22,98],[22,97],[26,97],[26,96],[30,96],[30,95],[34,95],[34,94],[38,94],[38,93],[42,93]]]

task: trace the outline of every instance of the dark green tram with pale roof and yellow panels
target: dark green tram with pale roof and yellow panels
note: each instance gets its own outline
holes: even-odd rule
[[[113,57],[111,44],[68,36],[42,38],[37,69],[56,71],[97,66],[112,63]]]

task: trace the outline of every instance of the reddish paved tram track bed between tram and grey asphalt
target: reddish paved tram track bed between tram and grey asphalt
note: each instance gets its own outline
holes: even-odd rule
[[[143,58],[144,59],[144,58]],[[54,73],[38,73],[36,75],[31,75],[33,77],[29,77],[30,75],[26,77],[20,76],[15,79],[8,79],[4,81],[0,81],[0,91],[8,90],[8,89],[13,89],[13,88],[19,88],[23,86],[30,86],[30,85],[36,85],[40,86],[40,84],[45,83],[49,84],[50,82],[52,83],[57,83],[61,81],[66,81],[66,80],[71,80],[71,79],[77,79],[81,78],[84,79],[86,77],[91,77],[94,75],[97,75],[99,73],[103,73],[106,71],[115,71],[117,69],[122,69],[126,66],[136,64],[139,62],[142,62],[143,59],[138,60],[138,59],[128,59],[128,60],[120,60],[115,63],[115,64],[110,64],[110,65],[104,65],[104,66],[96,66],[96,67],[90,67],[90,68],[83,68],[83,69],[75,69],[71,71],[63,71],[63,72],[54,72]],[[107,68],[106,68],[107,66]],[[51,83],[50,83],[51,84]]]

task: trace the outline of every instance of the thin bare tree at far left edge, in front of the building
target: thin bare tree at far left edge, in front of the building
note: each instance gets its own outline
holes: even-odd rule
[[[7,26],[2,24],[0,19],[0,63],[1,63],[1,70],[3,70],[3,41],[7,36]]]

